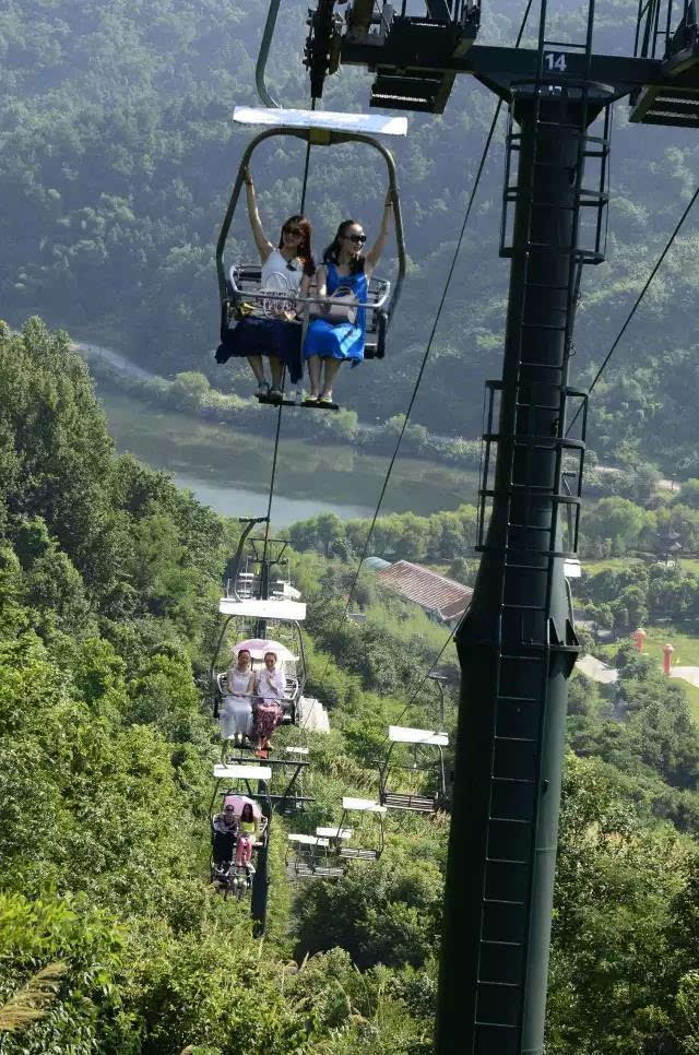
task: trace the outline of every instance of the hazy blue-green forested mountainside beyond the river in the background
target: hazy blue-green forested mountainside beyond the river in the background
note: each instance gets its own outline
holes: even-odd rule
[[[0,262],[11,322],[33,311],[126,349],[156,372],[205,370],[249,390],[244,371],[216,368],[213,241],[246,135],[236,103],[254,103],[253,64],[264,4],[236,0],[9,0],[0,12]],[[524,4],[521,5],[523,9]],[[599,7],[599,50],[628,52],[635,0]],[[569,4],[574,27],[577,7]],[[273,91],[307,105],[300,67],[303,0],[283,4],[270,62]],[[484,4],[484,43],[511,42],[520,8]],[[533,32],[533,28],[532,28]],[[369,79],[343,70],[324,106],[366,108]],[[495,100],[462,78],[440,118],[413,115],[396,146],[412,260],[383,365],[342,379],[364,420],[405,407],[461,224]],[[697,180],[691,130],[628,126],[616,107],[608,258],[588,269],[576,377],[592,368],[624,319]],[[483,381],[498,376],[507,262],[497,257],[501,135],[486,165],[415,420],[474,437]],[[321,248],[358,214],[375,229],[383,175],[360,152],[315,152],[308,211]],[[258,185],[273,232],[297,206],[301,147],[261,154]],[[251,251],[239,216],[230,258]],[[247,248],[244,246],[247,245]],[[699,472],[690,423],[697,400],[694,221],[668,257],[593,402],[590,441],[605,458],[632,453]],[[382,269],[391,272],[390,260]]]

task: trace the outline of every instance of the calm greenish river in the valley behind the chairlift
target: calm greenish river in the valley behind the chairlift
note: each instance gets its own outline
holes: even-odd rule
[[[110,348],[82,342],[74,347],[87,361],[98,356],[118,371],[141,380],[154,376]],[[274,449],[271,432],[276,415],[270,415],[269,437],[252,436],[188,414],[154,410],[132,395],[99,384],[97,391],[120,452],[131,451],[140,461],[170,473],[179,486],[189,488],[199,501],[220,513],[266,513]],[[333,512],[343,520],[370,517],[388,462],[387,455],[358,452],[346,444],[283,439],[273,523],[285,528],[320,512]],[[424,459],[399,458],[381,511],[412,510],[425,515],[455,509],[461,502],[475,500],[476,486],[473,472]]]

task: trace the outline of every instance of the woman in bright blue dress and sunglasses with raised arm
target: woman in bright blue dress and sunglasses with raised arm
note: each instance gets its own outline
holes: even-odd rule
[[[359,304],[366,304],[369,278],[376,268],[391,225],[392,199],[387,194],[379,236],[364,254],[367,236],[356,220],[344,220],[335,237],[323,253],[323,262],[317,272],[319,297],[343,296],[352,293]],[[330,316],[332,305],[321,305],[320,310]],[[331,318],[313,319],[306,334],[304,358],[308,361],[310,377],[309,403],[332,403],[332,389],[342,363],[353,366],[364,358],[366,309],[358,308],[353,321],[334,322]],[[324,377],[323,377],[324,369]]]

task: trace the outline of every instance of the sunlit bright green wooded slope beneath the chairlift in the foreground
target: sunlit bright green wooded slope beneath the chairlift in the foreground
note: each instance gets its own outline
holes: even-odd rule
[[[392,816],[380,862],[303,888],[277,818],[254,941],[208,881],[205,672],[238,528],[115,457],[66,334],[3,327],[0,386],[3,1055],[428,1055],[448,816]],[[469,521],[435,520],[434,544]],[[403,526],[379,522],[398,545]],[[327,537],[295,529],[293,578],[332,732],[277,734],[310,749],[308,832],[376,794],[389,722],[437,721],[420,679],[445,641],[370,577],[343,621],[353,564]],[[699,736],[678,684],[616,662],[616,686],[571,686],[546,1051],[691,1055]],[[453,733],[453,651],[442,668]]]

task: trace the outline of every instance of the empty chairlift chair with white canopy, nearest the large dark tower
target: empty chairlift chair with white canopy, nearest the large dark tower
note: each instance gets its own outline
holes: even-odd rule
[[[379,774],[381,805],[417,814],[442,809],[447,801],[443,756],[443,748],[449,744],[447,734],[390,725],[389,740]],[[410,784],[417,786],[410,787]]]

